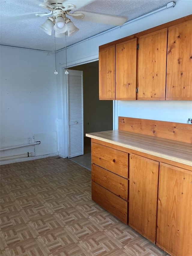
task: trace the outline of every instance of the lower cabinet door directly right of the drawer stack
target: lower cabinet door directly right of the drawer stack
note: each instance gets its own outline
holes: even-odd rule
[[[159,162],[130,154],[129,225],[155,243]]]

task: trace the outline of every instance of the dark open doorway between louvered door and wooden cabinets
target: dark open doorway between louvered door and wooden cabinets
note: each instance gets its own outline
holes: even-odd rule
[[[99,100],[99,62],[71,67],[83,71],[84,155],[70,158],[91,170],[91,139],[86,133],[113,130],[113,101]]]

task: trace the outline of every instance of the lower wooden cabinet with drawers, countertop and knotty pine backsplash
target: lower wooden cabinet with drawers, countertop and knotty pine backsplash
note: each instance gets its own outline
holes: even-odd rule
[[[192,129],[119,116],[91,137],[92,199],[173,256],[192,255]],[[187,134],[187,135],[186,135]]]

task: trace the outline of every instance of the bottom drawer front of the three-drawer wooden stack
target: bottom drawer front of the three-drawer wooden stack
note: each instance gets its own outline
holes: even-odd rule
[[[127,224],[128,202],[95,182],[91,182],[91,197],[93,201]]]

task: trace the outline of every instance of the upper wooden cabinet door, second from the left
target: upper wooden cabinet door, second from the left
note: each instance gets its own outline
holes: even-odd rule
[[[137,38],[116,44],[116,100],[136,100]]]

